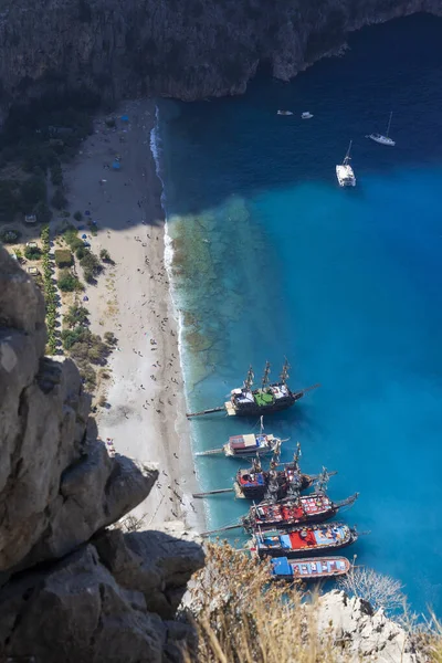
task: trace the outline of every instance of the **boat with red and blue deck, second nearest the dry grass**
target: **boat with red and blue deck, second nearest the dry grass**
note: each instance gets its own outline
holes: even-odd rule
[[[260,557],[312,557],[358,540],[356,528],[344,523],[293,527],[290,532],[255,532],[252,550]]]

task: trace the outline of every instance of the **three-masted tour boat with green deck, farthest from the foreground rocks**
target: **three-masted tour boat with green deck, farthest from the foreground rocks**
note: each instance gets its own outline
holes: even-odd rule
[[[319,385],[313,385],[301,391],[291,391],[287,386],[288,368],[288,362],[285,361],[280,381],[270,383],[270,364],[267,361],[261,388],[252,390],[254,375],[252,367],[250,367],[244,385],[232,389],[230,400],[224,402],[224,406],[202,410],[201,412],[189,412],[187,417],[201,417],[202,414],[211,414],[212,412],[221,412],[222,410],[225,410],[229,417],[255,417],[256,414],[267,414],[269,412],[286,410],[307,393],[307,391],[319,387]]]

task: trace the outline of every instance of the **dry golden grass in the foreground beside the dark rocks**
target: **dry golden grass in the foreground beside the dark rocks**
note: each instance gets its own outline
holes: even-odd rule
[[[346,661],[329,634],[318,636],[315,597],[301,607],[301,586],[269,580],[266,565],[225,544],[210,545],[192,588],[199,650],[186,655],[186,663]]]

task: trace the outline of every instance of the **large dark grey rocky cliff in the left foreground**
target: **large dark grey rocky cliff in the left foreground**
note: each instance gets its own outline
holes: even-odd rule
[[[172,620],[201,547],[106,528],[158,472],[109,457],[75,365],[44,345],[42,295],[0,248],[0,661],[179,660],[189,630]]]

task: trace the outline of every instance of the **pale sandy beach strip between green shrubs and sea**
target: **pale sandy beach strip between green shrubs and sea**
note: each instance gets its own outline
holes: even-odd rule
[[[94,135],[65,173],[71,214],[87,212],[98,231],[93,236],[85,221],[75,222],[80,234],[94,253],[106,249],[115,261],[84,293],[92,332],[113,332],[118,339],[110,379],[101,386],[107,407],[98,408],[99,432],[113,440],[116,453],[159,465],[159,481],[135,509],[137,518],[145,525],[185,519],[201,529],[202,508],[191,498],[197,485],[164,260],[161,182],[150,151],[155,102],[126,103],[113,116],[115,128],[96,118]]]

